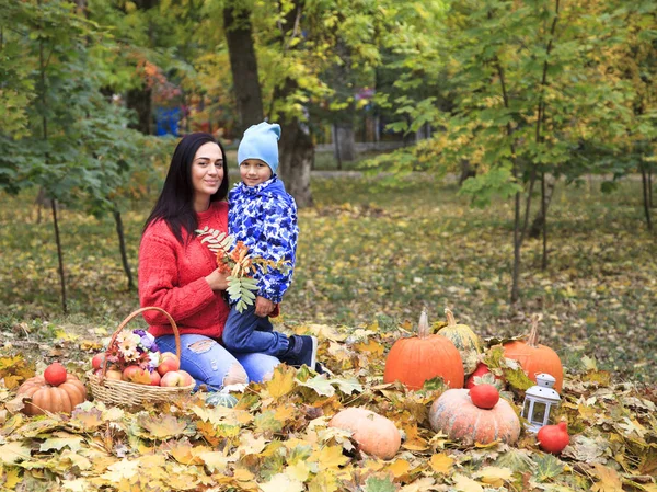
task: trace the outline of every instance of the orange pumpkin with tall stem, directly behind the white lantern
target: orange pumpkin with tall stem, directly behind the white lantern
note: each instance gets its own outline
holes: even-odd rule
[[[564,384],[564,368],[556,352],[546,345],[539,344],[539,321],[532,319],[531,331],[527,342],[515,340],[504,344],[504,356],[518,361],[522,370],[532,381],[537,381],[537,374],[548,373],[556,379],[554,389],[561,393]]]

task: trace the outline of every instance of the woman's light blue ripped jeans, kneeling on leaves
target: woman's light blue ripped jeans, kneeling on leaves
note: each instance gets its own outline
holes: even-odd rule
[[[174,335],[155,339],[160,352],[175,354]],[[181,335],[181,369],[186,370],[196,379],[196,388],[207,385],[210,390],[223,387],[223,379],[231,366],[239,364],[249,377],[249,381],[261,382],[270,375],[280,362],[272,355],[262,353],[231,354],[215,339],[196,334]]]

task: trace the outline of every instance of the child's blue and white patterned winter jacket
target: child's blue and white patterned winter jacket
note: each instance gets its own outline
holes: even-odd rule
[[[295,198],[274,175],[256,186],[235,184],[228,202],[228,229],[235,241],[244,241],[253,256],[288,261],[286,272],[269,268],[254,275],[260,286],[257,295],[280,302],[292,281],[299,237]]]

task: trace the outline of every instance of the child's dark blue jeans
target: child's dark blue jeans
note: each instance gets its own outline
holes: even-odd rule
[[[255,306],[243,312],[234,307],[230,309],[221,341],[233,354],[258,352],[275,357],[285,354],[290,344],[287,335],[274,331],[268,317],[255,314]]]

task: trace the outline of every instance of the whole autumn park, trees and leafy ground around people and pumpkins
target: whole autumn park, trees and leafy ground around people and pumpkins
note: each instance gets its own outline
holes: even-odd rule
[[[0,0],[0,485],[657,490],[656,16],[648,0]],[[203,403],[10,412],[49,362],[83,377],[139,307],[178,136],[217,135],[237,171],[263,118],[300,207],[278,327],[318,334],[337,379],[283,368],[211,425]],[[446,307],[488,346],[540,317],[567,374],[562,458],[525,434],[463,449],[427,424],[445,388],[380,385],[392,343]],[[358,403],[403,428],[391,462],[315,435]]]

